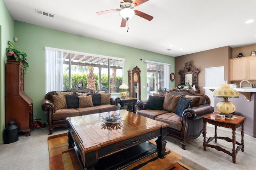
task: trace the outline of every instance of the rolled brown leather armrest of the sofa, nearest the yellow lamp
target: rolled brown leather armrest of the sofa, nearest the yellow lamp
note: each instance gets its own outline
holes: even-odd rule
[[[181,121],[184,119],[200,119],[204,115],[208,115],[214,112],[214,108],[210,105],[202,104],[196,107],[190,107],[184,110],[184,113],[181,117]]]

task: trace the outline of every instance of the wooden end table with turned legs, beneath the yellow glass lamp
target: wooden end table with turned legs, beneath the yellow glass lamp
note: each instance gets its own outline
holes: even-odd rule
[[[245,117],[238,116],[238,115],[233,115],[236,118],[221,120],[221,119],[215,119],[216,114],[218,114],[218,113],[214,112],[214,113],[203,116],[203,122],[204,122],[204,143],[203,143],[203,146],[204,146],[204,150],[206,151],[206,147],[211,147],[211,148],[214,148],[216,150],[222,151],[222,152],[232,156],[233,163],[236,163],[236,154],[238,153],[238,151],[241,149],[242,152],[244,152],[244,119],[245,119]],[[206,141],[206,123],[210,123],[210,124],[215,126],[215,135],[214,135],[214,137],[210,137],[207,141]],[[230,127],[232,129],[232,139],[230,139],[228,137],[218,137],[217,136],[217,126],[226,127],[226,128]],[[241,143],[238,143],[236,141],[236,128],[240,127],[240,126],[242,127],[241,128],[242,140],[241,140]],[[224,139],[225,141],[232,142],[232,144],[233,144],[232,153],[229,152],[226,149],[223,149],[220,146],[209,145],[208,143],[210,143],[210,141],[212,141],[213,139],[214,139],[215,142],[217,142],[217,139]],[[238,145],[237,148],[235,148],[236,145]]]

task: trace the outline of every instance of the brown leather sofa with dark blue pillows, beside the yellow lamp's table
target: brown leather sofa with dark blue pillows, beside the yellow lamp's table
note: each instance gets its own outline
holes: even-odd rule
[[[138,100],[137,106],[137,114],[168,123],[167,135],[180,139],[182,149],[202,134],[202,116],[214,111],[208,96],[177,89]]]

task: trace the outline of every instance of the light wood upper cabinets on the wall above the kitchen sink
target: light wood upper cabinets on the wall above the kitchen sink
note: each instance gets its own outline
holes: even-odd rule
[[[230,80],[256,80],[256,57],[230,59]]]

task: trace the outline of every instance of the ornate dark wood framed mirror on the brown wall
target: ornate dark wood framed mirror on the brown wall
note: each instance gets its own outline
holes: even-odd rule
[[[197,68],[194,68],[191,63],[185,63],[185,66],[182,70],[179,71],[180,74],[180,84],[192,88],[195,86],[196,89],[199,89],[197,85],[197,74],[200,72]]]

